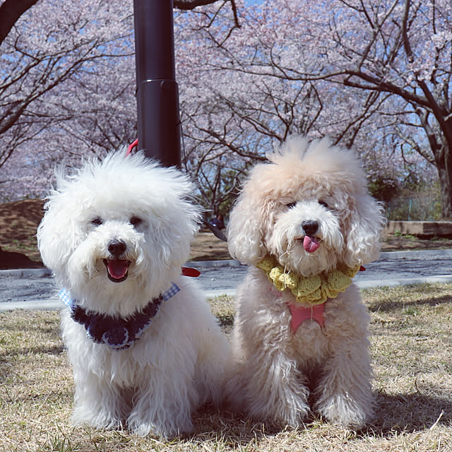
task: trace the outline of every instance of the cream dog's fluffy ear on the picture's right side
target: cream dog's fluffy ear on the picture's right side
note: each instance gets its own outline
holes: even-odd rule
[[[379,258],[380,234],[386,223],[382,206],[369,194],[355,196],[345,215],[345,251],[343,261],[349,267]]]

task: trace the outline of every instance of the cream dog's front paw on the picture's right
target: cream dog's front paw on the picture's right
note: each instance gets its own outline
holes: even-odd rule
[[[353,399],[349,393],[334,394],[316,408],[332,424],[359,429],[372,416],[373,398],[371,394],[361,400]]]

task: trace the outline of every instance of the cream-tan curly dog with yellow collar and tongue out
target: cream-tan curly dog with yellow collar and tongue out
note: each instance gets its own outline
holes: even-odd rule
[[[292,137],[252,169],[230,215],[237,294],[232,408],[299,426],[314,405],[360,427],[372,412],[369,315],[351,278],[379,253],[381,207],[351,151]]]

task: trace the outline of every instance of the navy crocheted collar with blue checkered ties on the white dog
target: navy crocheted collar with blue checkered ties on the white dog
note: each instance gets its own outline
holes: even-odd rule
[[[114,350],[124,350],[131,347],[141,337],[152,319],[158,312],[160,304],[166,302],[179,292],[179,287],[171,283],[171,287],[153,298],[141,311],[136,311],[127,317],[109,316],[94,311],[86,311],[78,305],[77,300],[71,299],[69,291],[61,289],[59,297],[71,309],[73,321],[85,327],[86,334],[97,344],[105,344]]]

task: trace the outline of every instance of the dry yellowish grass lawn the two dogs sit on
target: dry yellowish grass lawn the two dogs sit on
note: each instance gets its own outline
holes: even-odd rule
[[[0,314],[0,450],[452,451],[452,285],[364,291],[379,408],[362,432],[316,419],[272,430],[227,412],[194,416],[193,436],[161,441],[71,426],[73,381],[55,311]],[[226,330],[229,299],[211,300]]]

